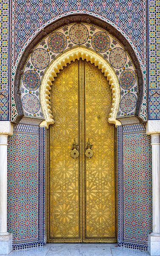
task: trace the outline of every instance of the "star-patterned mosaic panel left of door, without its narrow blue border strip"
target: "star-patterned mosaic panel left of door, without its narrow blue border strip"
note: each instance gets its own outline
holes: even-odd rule
[[[38,140],[37,131],[14,130],[8,137],[8,231],[13,245],[38,241]]]

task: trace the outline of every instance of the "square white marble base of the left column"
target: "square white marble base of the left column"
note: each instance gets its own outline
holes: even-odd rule
[[[12,233],[0,233],[0,254],[12,251]]]

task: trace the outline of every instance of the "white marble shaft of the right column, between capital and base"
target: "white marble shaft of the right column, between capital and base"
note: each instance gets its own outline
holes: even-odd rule
[[[152,145],[152,235],[160,236],[160,134],[151,134]]]

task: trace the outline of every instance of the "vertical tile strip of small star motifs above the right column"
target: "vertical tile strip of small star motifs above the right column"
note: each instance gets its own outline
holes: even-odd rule
[[[160,1],[149,0],[149,119],[160,119]]]

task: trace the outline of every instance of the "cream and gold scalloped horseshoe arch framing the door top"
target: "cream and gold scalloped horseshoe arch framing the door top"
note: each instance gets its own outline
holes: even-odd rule
[[[107,76],[107,80],[112,89],[112,107],[110,109],[108,122],[113,123],[116,126],[121,125],[121,122],[116,119],[120,105],[120,86],[115,71],[108,61],[104,60],[104,58],[97,52],[94,52],[92,49],[85,49],[84,47],[75,47],[74,49],[67,50],[56,58],[56,60],[49,65],[43,76],[40,87],[40,101],[45,121],[42,121],[40,126],[48,128],[50,124],[54,123],[50,102],[52,81],[55,80],[54,78],[57,76],[57,73],[59,73],[60,70],[63,70],[63,67],[66,67],[71,61],[75,61],[76,59],[79,60],[80,58],[82,58],[82,60],[86,59],[87,61],[90,61],[96,67],[101,69],[104,76]]]

